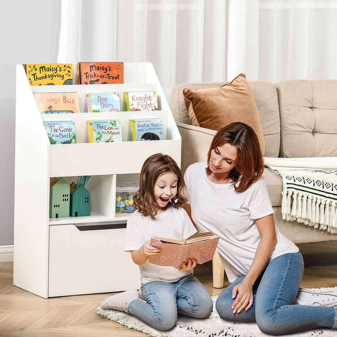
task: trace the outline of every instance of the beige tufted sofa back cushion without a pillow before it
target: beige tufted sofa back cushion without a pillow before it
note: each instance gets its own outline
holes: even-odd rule
[[[285,80],[275,86],[280,157],[337,156],[337,80]]]

